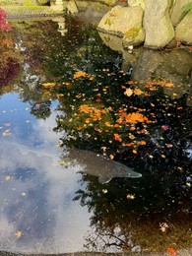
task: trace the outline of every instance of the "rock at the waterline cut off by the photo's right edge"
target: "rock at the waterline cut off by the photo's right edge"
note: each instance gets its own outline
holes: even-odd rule
[[[192,45],[192,10],[176,27],[175,36],[182,43]]]

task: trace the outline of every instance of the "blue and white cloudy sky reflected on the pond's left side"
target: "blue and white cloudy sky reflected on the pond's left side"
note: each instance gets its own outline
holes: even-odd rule
[[[59,134],[52,131],[56,113],[46,121],[32,120],[26,110],[29,105],[17,101],[17,95],[5,98],[1,98],[1,112],[6,107],[1,124],[10,126],[2,125],[1,130],[9,128],[10,135],[1,136],[0,147],[0,249],[28,253],[81,250],[90,215],[73,201],[80,187],[78,165],[69,170],[55,164],[59,162],[59,149],[54,148]],[[8,100],[9,107],[5,105]],[[13,122],[19,110],[23,114]]]

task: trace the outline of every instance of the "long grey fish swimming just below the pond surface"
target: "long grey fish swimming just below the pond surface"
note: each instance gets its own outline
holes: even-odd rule
[[[14,142],[6,142],[4,147],[6,146],[11,149],[17,149],[22,155],[34,154],[36,157],[47,157],[49,160],[52,160],[52,165],[55,165],[56,160],[57,162],[62,160],[65,167],[78,166],[79,172],[98,177],[100,183],[107,183],[112,178],[139,178],[142,176],[141,173],[134,171],[121,162],[110,160],[91,151],[62,148],[59,149],[62,150],[60,152],[62,156],[59,160],[59,152],[51,147],[46,147],[46,149],[42,147],[30,148]],[[58,165],[58,163],[56,164]]]

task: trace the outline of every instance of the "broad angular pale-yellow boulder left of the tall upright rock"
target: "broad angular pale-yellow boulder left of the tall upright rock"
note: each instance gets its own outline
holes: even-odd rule
[[[141,7],[115,6],[104,15],[98,24],[98,31],[124,36],[127,34],[137,41],[137,36],[143,31],[144,11]]]

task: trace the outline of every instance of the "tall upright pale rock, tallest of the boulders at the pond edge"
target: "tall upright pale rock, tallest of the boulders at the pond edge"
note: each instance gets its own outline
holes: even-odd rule
[[[169,18],[171,0],[146,0],[144,28],[145,46],[163,48],[174,37],[174,30]]]

